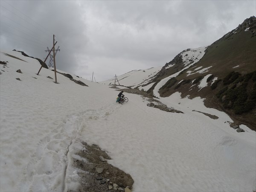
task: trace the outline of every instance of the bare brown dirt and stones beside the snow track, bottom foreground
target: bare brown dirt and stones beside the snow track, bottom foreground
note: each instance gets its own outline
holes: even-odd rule
[[[74,159],[73,166],[83,170],[84,172],[79,172],[81,178],[81,186],[79,187],[79,192],[116,192],[116,191],[126,191],[129,192],[132,188],[134,180],[131,175],[126,174],[122,170],[110,165],[107,161],[111,157],[102,151],[98,145],[88,145],[87,143],[82,143],[84,149],[77,153],[84,160]]]

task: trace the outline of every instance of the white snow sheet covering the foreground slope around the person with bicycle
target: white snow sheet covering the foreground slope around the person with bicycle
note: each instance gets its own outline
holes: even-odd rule
[[[202,99],[159,99],[183,113],[150,108],[129,93],[120,105],[108,85],[73,76],[85,87],[58,73],[55,84],[50,70],[36,75],[37,60],[2,52],[9,62],[0,65],[0,191],[76,191],[73,155],[81,142],[108,151],[108,163],[131,175],[134,191],[256,190],[255,131],[240,125],[245,132],[237,133],[227,114]]]

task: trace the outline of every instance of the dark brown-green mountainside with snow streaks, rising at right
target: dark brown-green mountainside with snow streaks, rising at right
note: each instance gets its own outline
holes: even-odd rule
[[[191,99],[205,98],[207,107],[256,131],[256,17],[209,46],[180,52],[153,77],[131,88],[152,96],[157,89],[161,97],[180,92]]]

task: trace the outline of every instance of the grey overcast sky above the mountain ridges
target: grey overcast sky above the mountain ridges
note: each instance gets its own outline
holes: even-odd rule
[[[104,81],[163,66],[255,15],[256,0],[0,0],[0,47],[44,60],[54,34],[57,69]]]

